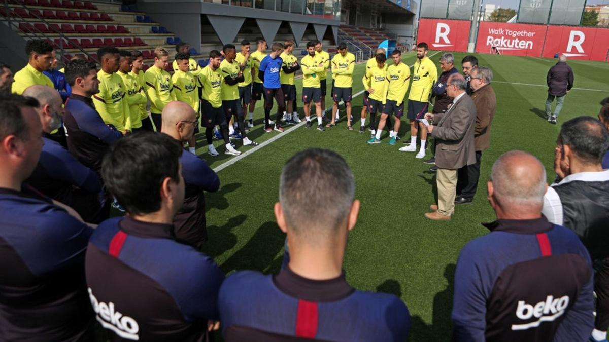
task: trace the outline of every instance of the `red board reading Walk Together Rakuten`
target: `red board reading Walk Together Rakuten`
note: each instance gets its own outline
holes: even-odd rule
[[[507,24],[482,21],[478,30],[476,52],[541,57],[546,37],[545,25]]]

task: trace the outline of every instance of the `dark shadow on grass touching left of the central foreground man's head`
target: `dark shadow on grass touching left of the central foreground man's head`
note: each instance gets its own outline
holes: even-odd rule
[[[285,235],[276,222],[263,223],[241,250],[222,263],[220,268],[228,273],[232,270],[265,271],[269,265],[276,268],[276,263],[281,266],[281,258],[276,256],[283,248],[284,240]]]

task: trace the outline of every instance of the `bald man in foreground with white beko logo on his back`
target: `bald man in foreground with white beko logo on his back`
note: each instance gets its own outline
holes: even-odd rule
[[[493,165],[497,220],[463,248],[455,273],[457,341],[587,341],[593,329],[590,255],[570,229],[541,215],[546,170],[523,151]]]

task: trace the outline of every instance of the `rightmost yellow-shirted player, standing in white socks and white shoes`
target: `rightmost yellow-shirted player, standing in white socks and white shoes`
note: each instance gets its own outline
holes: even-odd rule
[[[412,69],[412,85],[410,85],[410,95],[408,96],[408,119],[410,120],[410,145],[400,148],[400,151],[415,152],[417,150],[417,133],[421,128],[421,149],[417,153],[417,158],[424,158],[425,143],[427,142],[427,130],[422,122],[428,112],[429,96],[431,87],[438,80],[438,69],[434,62],[428,57],[429,46],[427,43],[418,43],[417,61]],[[406,143],[406,141],[404,141]]]

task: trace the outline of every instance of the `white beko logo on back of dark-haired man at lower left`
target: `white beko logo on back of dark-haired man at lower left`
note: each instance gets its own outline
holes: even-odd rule
[[[97,321],[102,324],[105,329],[110,329],[122,338],[127,340],[138,341],[139,325],[135,319],[124,316],[122,313],[114,310],[114,303],[98,302],[93,295],[91,288],[88,288],[91,305],[96,313]]]

